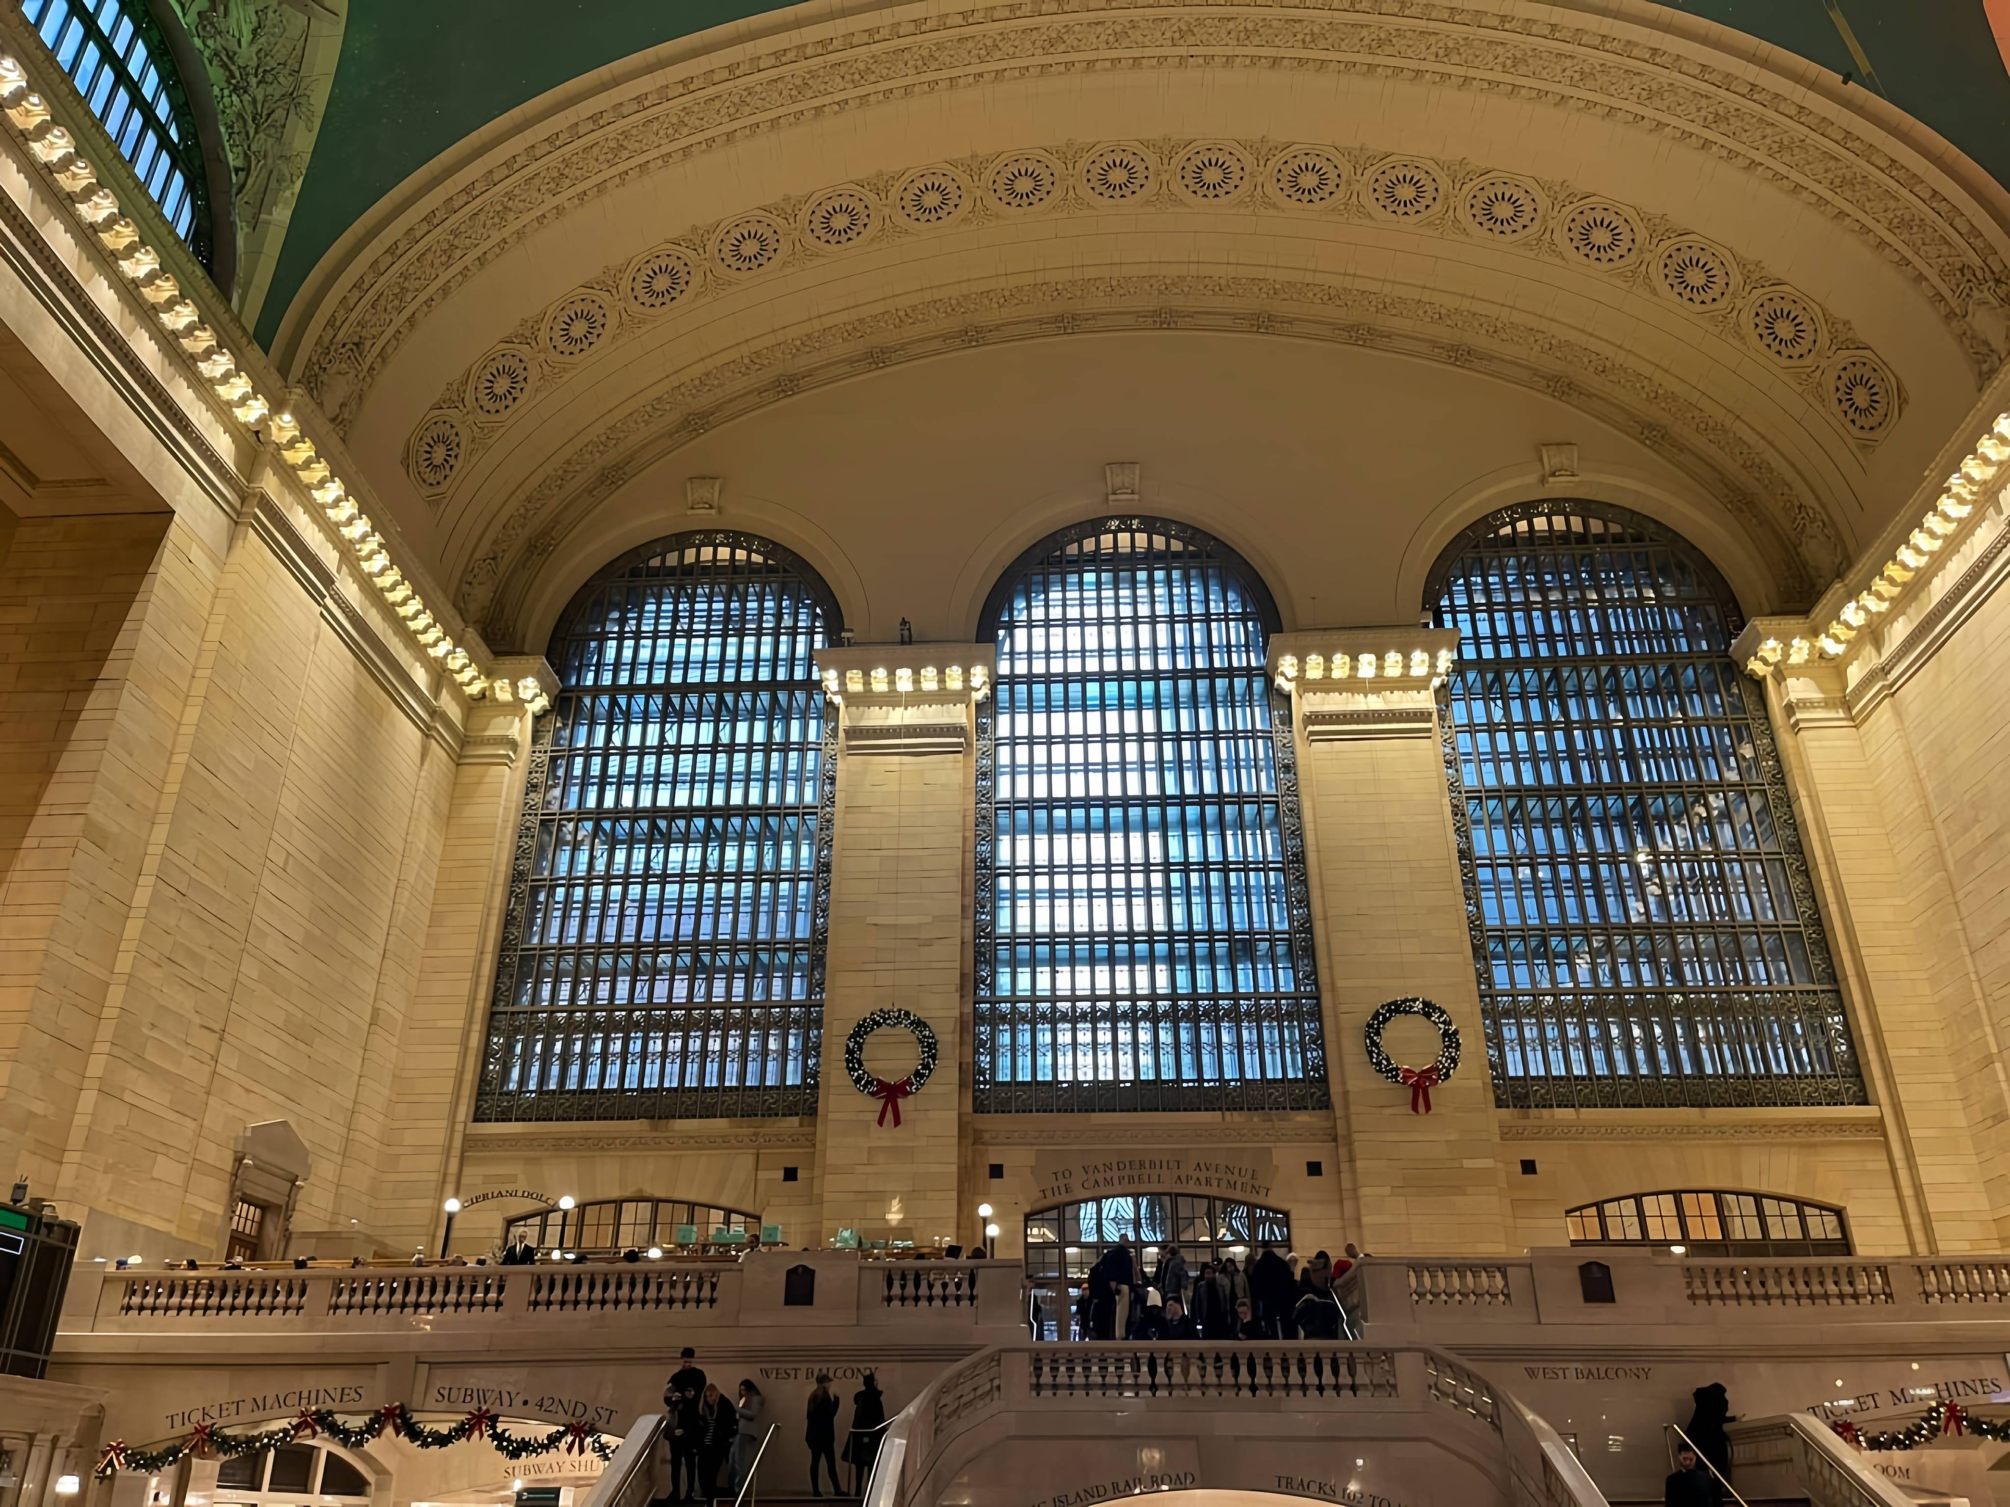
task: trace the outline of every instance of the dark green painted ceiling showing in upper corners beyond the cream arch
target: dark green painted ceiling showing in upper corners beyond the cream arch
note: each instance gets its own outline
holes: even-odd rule
[[[549,88],[770,0],[350,0],[342,62],[257,336],[406,175]],[[1883,92],[2010,183],[2010,74],[1984,0],[1674,0]],[[1867,66],[1865,66],[1867,64]]]

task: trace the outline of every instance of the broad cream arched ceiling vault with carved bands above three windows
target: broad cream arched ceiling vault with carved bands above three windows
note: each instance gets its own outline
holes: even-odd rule
[[[482,127],[279,332],[492,643],[693,518],[800,549],[868,637],[961,637],[1105,460],[1294,625],[1413,615],[1431,541],[1556,486],[1805,603],[2010,356],[1994,179],[1646,0],[772,20]]]

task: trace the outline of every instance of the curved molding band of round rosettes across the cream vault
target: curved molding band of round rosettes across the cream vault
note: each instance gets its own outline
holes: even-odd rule
[[[1309,153],[1335,163],[1335,171],[1349,187],[1309,201],[1272,195],[1272,203],[1282,211],[1321,215],[1335,223],[1387,221],[1439,237],[1479,241],[1532,259],[1562,261],[1656,295],[1666,307],[1694,319],[1719,338],[1743,344],[1751,354],[1775,358],[1781,376],[1797,386],[1813,408],[1825,412],[1839,434],[1859,446],[1873,448],[1881,442],[1903,408],[1903,394],[1889,366],[1873,350],[1855,342],[1845,321],[1821,309],[1799,289],[1773,279],[1757,263],[1741,263],[1731,251],[1670,221],[1642,215],[1612,199],[1586,195],[1564,183],[1536,185],[1467,163],[1439,165],[1417,157],[1383,157],[1359,147],[1304,143],[1282,149],[1260,141],[1170,141],[1154,143],[1154,147],[1124,143],[1089,149],[1079,155],[1077,171],[1063,171],[1069,157],[1077,153],[1081,149],[1069,145],[1019,147],[971,163],[931,163],[874,175],[866,179],[866,185],[844,183],[816,191],[808,195],[808,217],[792,213],[792,205],[802,203],[802,199],[780,199],[758,211],[730,215],[714,225],[693,225],[673,241],[641,253],[643,269],[677,269],[677,275],[665,283],[665,293],[647,303],[607,293],[607,289],[633,281],[637,261],[627,263],[629,271],[603,267],[593,279],[561,293],[541,313],[476,356],[446,384],[434,406],[406,438],[406,476],[432,508],[446,506],[456,480],[466,476],[494,438],[523,414],[533,392],[551,394],[583,370],[581,358],[611,352],[671,315],[683,315],[720,293],[738,291],[754,275],[790,271],[808,259],[836,253],[868,251],[888,239],[941,235],[949,229],[963,235],[971,225],[1011,225],[1029,215],[1099,215],[1114,205],[1120,205],[1126,215],[1214,209],[1246,219],[1248,205],[1244,201],[1256,197],[1252,185],[1288,179]],[[1009,179],[1011,171],[1025,163],[1055,163],[1057,173],[1055,187],[1043,191],[1027,207],[1013,207],[997,197],[971,195],[969,211],[955,219],[917,219],[909,211],[913,193],[902,197],[902,191],[913,189],[917,175],[921,179],[933,175],[945,183],[997,183],[1001,177]],[[1176,187],[1184,181],[1182,175],[1200,171],[1196,163],[1224,175],[1220,181],[1232,187],[1206,197]],[[1122,195],[1105,185],[1108,171],[1118,169],[1130,185]],[[1439,185],[1429,189],[1427,197],[1433,203],[1437,197],[1455,193],[1473,213],[1397,213],[1379,205],[1375,197],[1389,185],[1407,185],[1411,193],[1425,193],[1425,185]],[[890,199],[882,203],[876,191],[888,193]],[[1489,213],[1505,213],[1510,203],[1516,205],[1518,215],[1526,217],[1522,227],[1526,235],[1522,231],[1507,233],[1485,219]],[[840,209],[854,221],[872,225],[874,231],[832,239],[808,229],[790,229],[790,225],[820,223],[814,221],[816,213],[828,217]],[[1536,233],[1550,229],[1552,223],[1554,235]],[[746,265],[722,265],[718,259],[720,237],[750,225],[760,225],[762,235],[770,237],[762,241],[762,255],[748,259]],[[1620,255],[1610,249],[1608,241],[1614,245],[1624,241],[1630,249]],[[1648,249],[1650,245],[1652,249]],[[706,247],[714,247],[712,271],[703,271]],[[1751,297],[1745,305],[1735,305],[1729,297],[1713,297],[1713,287],[1749,287]],[[555,324],[577,326],[577,338],[561,348],[549,338]],[[523,330],[527,326],[543,330],[547,336],[525,344]],[[1136,462],[1112,462],[1110,486],[1120,486],[1118,468],[1124,466],[1130,468],[1130,492],[1110,492],[1110,506],[1118,508],[1134,506],[1138,496]],[[1126,496],[1132,500],[1126,502]]]

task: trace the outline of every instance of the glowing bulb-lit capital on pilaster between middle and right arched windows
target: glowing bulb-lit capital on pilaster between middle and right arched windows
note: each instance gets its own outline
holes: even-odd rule
[[[1453,629],[1313,629],[1270,639],[1270,679],[1292,697],[1309,743],[1429,737],[1435,691],[1459,651]]]

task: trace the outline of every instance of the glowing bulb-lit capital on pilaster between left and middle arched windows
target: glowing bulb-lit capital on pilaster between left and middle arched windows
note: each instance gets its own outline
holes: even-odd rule
[[[971,707],[991,695],[989,643],[854,643],[816,651],[852,754],[965,754]]]

